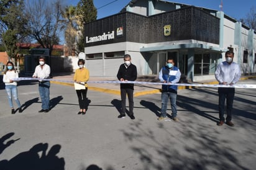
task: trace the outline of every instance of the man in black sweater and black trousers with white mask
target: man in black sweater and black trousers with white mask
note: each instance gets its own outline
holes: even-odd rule
[[[124,64],[119,67],[117,78],[119,81],[135,81],[137,79],[137,68],[135,65],[130,63],[130,55],[124,55]],[[134,117],[134,84],[133,83],[121,83],[121,104],[122,112],[118,118],[126,117],[126,94],[129,100],[129,116],[130,119],[135,119]]]

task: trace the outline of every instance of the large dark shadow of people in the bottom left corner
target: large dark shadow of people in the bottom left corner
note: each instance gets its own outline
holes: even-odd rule
[[[0,161],[0,167],[4,170],[24,169],[24,170],[64,170],[64,158],[58,158],[56,154],[60,151],[60,145],[54,145],[46,154],[47,143],[38,143],[29,151],[17,154],[14,158]],[[41,154],[41,156],[40,156]]]

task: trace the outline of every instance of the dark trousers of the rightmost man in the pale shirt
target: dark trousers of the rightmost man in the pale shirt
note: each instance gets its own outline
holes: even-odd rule
[[[224,108],[225,100],[227,99],[227,121],[232,119],[232,108],[235,96],[235,88],[232,87],[219,87],[219,119],[225,121],[224,119]]]

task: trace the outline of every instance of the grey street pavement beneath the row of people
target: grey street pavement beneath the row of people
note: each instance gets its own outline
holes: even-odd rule
[[[239,83],[256,84],[256,79]],[[159,88],[135,86],[144,94],[134,97],[131,120],[117,119],[120,96],[111,90],[118,91],[119,84],[89,85],[85,115],[76,114],[74,87],[57,82],[50,87],[50,112],[39,113],[36,81],[19,83],[23,112],[12,115],[1,84],[0,169],[255,169],[255,89],[235,89],[235,127],[219,127],[216,88],[179,90],[179,122],[157,120],[161,94],[151,90]]]

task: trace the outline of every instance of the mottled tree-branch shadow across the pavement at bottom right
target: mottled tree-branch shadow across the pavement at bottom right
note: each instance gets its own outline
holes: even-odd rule
[[[138,155],[142,169],[248,169],[240,164],[239,154],[229,145],[229,139],[216,139],[217,130],[209,133],[206,124],[191,125],[194,122],[180,122],[177,126],[165,127],[158,123],[162,137],[143,120],[131,122],[122,130],[130,149]],[[132,145],[133,143],[137,145]],[[254,153],[250,153],[253,156]]]

